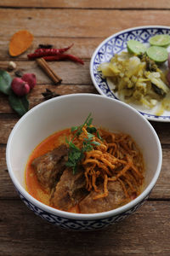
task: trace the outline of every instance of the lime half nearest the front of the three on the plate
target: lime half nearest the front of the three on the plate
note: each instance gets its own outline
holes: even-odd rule
[[[167,49],[160,46],[150,46],[150,48],[146,50],[146,54],[151,60],[156,61],[156,63],[167,61],[168,57]]]

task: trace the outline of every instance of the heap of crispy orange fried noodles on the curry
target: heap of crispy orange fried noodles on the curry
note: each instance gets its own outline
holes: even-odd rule
[[[77,148],[82,148],[84,138],[88,137],[86,125],[82,134],[74,137]],[[139,195],[139,187],[144,179],[144,160],[132,137],[122,133],[112,133],[98,129],[100,138],[94,135],[93,141],[99,143],[92,150],[84,152],[81,165],[86,177],[86,189],[98,194],[94,200],[108,195],[108,183],[118,181],[127,198]],[[103,191],[99,184],[103,184]]]

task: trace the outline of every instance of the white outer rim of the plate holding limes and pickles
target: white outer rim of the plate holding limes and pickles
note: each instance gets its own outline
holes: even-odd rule
[[[107,41],[109,41],[111,38],[115,38],[116,36],[118,36],[119,34],[122,34],[122,33],[125,33],[125,32],[132,32],[133,30],[138,30],[138,29],[150,29],[150,28],[153,28],[153,29],[156,29],[156,28],[161,28],[161,29],[167,29],[170,31],[170,26],[161,26],[161,25],[150,25],[150,26],[133,26],[133,27],[130,27],[130,28],[127,28],[127,29],[124,29],[120,32],[116,32],[116,33],[113,33],[111,36],[105,38],[98,46],[96,49],[94,49],[94,53],[91,57],[91,60],[90,60],[90,76],[91,76],[91,79],[93,81],[93,84],[96,88],[96,90],[98,90],[99,94],[100,95],[103,95],[103,96],[106,96],[105,93],[99,88],[99,85],[96,83],[95,79],[94,79],[94,73],[93,73],[93,67],[94,67],[94,58],[95,56],[97,55],[99,49],[102,47],[102,45],[104,45]],[[107,97],[107,96],[106,96]],[[114,95],[114,98],[118,101],[121,101],[119,100],[118,98],[116,98],[116,96]],[[125,102],[126,103],[126,102]],[[127,104],[127,103],[126,103]],[[128,105],[128,104],[127,104]],[[134,107],[133,107],[134,108]],[[135,108],[136,109],[136,108]],[[136,109],[137,111],[139,111],[138,109]],[[152,113],[144,113],[142,111],[139,111],[139,113],[141,113],[144,118],[150,120],[150,121],[156,121],[156,122],[170,122],[170,114],[168,116],[165,116],[165,115],[155,115],[155,114],[152,114]]]

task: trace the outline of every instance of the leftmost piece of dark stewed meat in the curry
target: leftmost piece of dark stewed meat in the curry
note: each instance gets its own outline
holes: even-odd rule
[[[68,147],[65,144],[37,157],[32,161],[32,166],[37,174],[37,179],[45,189],[52,189],[65,170],[68,160]]]

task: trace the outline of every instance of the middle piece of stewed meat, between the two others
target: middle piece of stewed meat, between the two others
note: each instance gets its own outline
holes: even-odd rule
[[[73,174],[70,168],[65,169],[56,184],[54,194],[51,197],[51,204],[63,211],[69,211],[77,205],[86,195],[86,179],[82,170]]]

